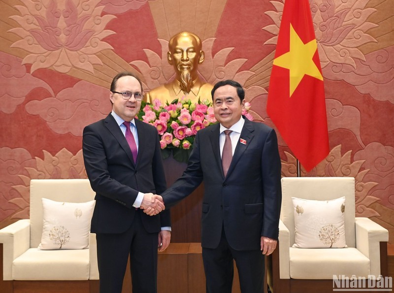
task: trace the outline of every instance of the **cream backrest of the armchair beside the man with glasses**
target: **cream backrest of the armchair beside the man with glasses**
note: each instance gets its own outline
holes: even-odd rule
[[[37,247],[42,234],[42,201],[86,202],[95,199],[88,179],[32,179],[30,181],[30,247]]]

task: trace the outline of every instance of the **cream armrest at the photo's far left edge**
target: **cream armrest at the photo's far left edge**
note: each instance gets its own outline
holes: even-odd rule
[[[30,220],[19,220],[0,230],[3,243],[3,280],[12,280],[12,262],[30,248]]]

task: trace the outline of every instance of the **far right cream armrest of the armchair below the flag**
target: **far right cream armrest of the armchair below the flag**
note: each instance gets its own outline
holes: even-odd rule
[[[389,241],[389,231],[368,218],[356,218],[356,248],[370,261],[370,273],[381,274],[380,242]]]

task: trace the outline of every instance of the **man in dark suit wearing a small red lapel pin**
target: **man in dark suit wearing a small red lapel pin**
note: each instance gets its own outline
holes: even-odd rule
[[[241,291],[262,293],[264,255],[273,252],[279,233],[276,134],[242,117],[245,93],[239,83],[220,81],[211,94],[220,124],[197,132],[185,172],[162,196],[168,208],[203,181],[201,246],[207,293],[231,293],[233,260]],[[227,135],[227,130],[232,131]]]

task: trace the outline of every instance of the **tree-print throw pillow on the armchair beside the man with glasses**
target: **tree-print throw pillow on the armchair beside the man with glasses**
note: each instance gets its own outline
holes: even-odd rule
[[[90,223],[95,200],[60,202],[42,198],[43,228],[39,249],[89,247]]]

